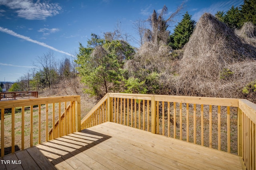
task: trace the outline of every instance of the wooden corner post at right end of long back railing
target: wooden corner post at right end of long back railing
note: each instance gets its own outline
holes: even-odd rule
[[[237,112],[237,154],[242,156],[242,142],[243,142],[243,129],[242,129],[242,110],[238,107]]]

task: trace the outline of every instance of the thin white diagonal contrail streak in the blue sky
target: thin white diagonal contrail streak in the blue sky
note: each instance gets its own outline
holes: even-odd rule
[[[14,36],[14,37],[18,37],[18,38],[24,39],[24,40],[26,40],[26,41],[30,41],[30,42],[32,42],[32,43],[41,45],[41,46],[46,47],[46,48],[48,48],[48,49],[52,49],[52,50],[57,51],[57,52],[59,52],[59,53],[63,53],[63,54],[69,55],[69,56],[71,56],[71,57],[74,57],[73,55],[71,55],[71,54],[69,54],[69,53],[66,53],[66,52],[64,52],[64,51],[58,50],[58,49],[56,49],[56,48],[54,48],[54,47],[51,47],[50,45],[47,45],[47,44],[45,44],[45,43],[42,43],[42,42],[33,40],[33,39],[31,39],[30,37],[26,37],[26,36],[24,36],[24,35],[20,35],[20,34],[18,34],[18,33],[14,32],[14,31],[12,31],[12,30],[10,30],[10,29],[0,27],[0,31],[2,31],[2,32],[4,32],[4,33],[8,33],[8,34],[10,34],[10,35],[12,35],[12,36]]]

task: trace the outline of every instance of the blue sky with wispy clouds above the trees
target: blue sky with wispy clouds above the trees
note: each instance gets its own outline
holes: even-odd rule
[[[136,38],[134,21],[146,20],[164,4],[174,12],[181,0],[0,0],[0,82],[16,81],[34,67],[36,57],[54,51],[57,60],[74,59],[79,42],[86,46],[91,33],[114,31]],[[227,11],[243,0],[186,0],[186,11],[198,20],[204,12]],[[176,18],[180,21],[182,15]],[[167,16],[166,16],[167,17]],[[173,26],[177,24],[173,23]],[[170,30],[173,27],[170,27]]]

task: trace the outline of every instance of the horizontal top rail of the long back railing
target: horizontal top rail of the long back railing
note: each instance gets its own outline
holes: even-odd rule
[[[216,106],[238,107],[237,98],[212,98],[212,97],[193,97],[193,96],[168,96],[155,94],[128,94],[128,93],[108,93],[112,98],[128,98],[138,100],[151,100],[154,96],[155,101],[159,102],[178,102],[189,104],[205,104]]]

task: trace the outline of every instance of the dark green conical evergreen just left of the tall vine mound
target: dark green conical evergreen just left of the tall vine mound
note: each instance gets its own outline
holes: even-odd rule
[[[193,33],[196,21],[191,19],[191,15],[186,12],[182,20],[174,28],[174,33],[170,37],[173,49],[182,49],[188,42],[190,35]]]

